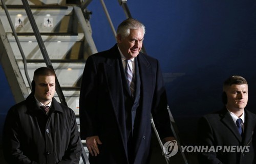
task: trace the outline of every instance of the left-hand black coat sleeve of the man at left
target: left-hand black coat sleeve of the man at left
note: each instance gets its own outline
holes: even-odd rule
[[[3,131],[3,152],[8,163],[36,163],[20,149],[19,117],[15,107],[10,108]]]

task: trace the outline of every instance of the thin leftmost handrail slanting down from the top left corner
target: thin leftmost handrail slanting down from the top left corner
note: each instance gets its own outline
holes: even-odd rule
[[[32,91],[31,81],[30,81],[30,78],[29,78],[28,68],[27,68],[27,60],[26,60],[24,51],[23,51],[23,49],[22,49],[22,46],[20,45],[20,42],[19,42],[17,33],[16,33],[16,31],[15,31],[15,29],[14,29],[14,26],[13,26],[13,24],[12,24],[12,20],[11,20],[10,14],[9,14],[9,12],[8,12],[8,9],[7,9],[6,5],[5,5],[5,2],[4,2],[3,0],[1,0],[1,2],[2,2],[2,5],[3,5],[4,9],[5,9],[5,14],[6,14],[7,19],[8,19],[8,21],[9,21],[9,24],[10,24],[10,26],[11,26],[12,33],[13,33],[14,38],[15,38],[15,40],[16,40],[16,43],[17,43],[17,45],[18,45],[18,49],[19,49],[19,51],[20,51],[20,54],[22,54],[22,60],[23,60],[23,64],[24,64],[25,75],[26,75],[26,78],[27,78],[27,80],[28,80],[30,90]]]

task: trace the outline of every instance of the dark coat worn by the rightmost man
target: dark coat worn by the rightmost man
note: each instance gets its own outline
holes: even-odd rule
[[[221,146],[222,149],[217,152],[215,150],[199,153],[199,163],[255,163],[255,134],[253,134],[255,124],[256,115],[245,110],[244,134],[241,136],[226,107],[217,113],[202,117],[198,128],[199,145],[215,146],[215,148]],[[240,150],[237,149],[239,146],[241,146]],[[231,150],[231,147],[235,148]]]

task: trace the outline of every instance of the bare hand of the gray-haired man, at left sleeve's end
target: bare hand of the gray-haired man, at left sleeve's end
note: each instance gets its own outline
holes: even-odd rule
[[[89,136],[86,138],[86,146],[89,150],[89,153],[92,156],[97,156],[99,154],[98,144],[101,145],[101,141],[99,140],[99,136]]]

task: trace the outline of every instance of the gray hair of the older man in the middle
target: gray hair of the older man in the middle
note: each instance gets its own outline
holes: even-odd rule
[[[130,35],[130,30],[143,30],[143,35],[145,35],[145,26],[139,22],[138,20],[135,20],[133,18],[127,18],[124,21],[122,21],[117,28],[117,35],[121,35],[122,37],[127,37]]]

